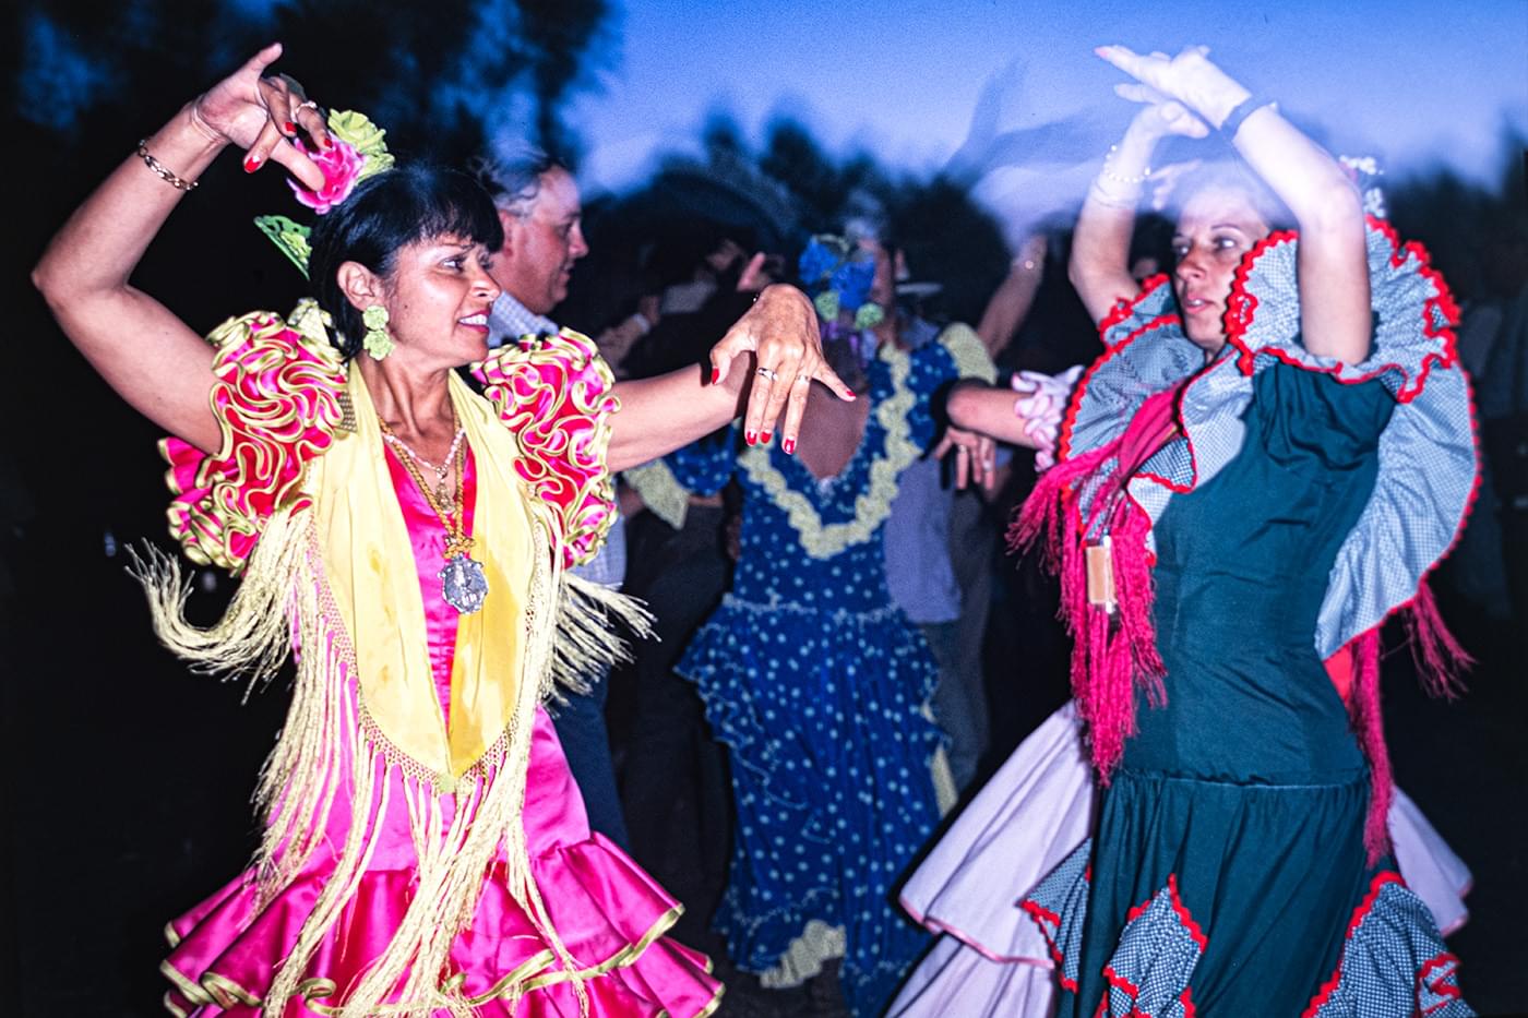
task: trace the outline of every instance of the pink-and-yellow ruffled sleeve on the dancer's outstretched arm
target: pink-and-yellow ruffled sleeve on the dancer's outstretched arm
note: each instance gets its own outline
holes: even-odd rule
[[[520,445],[516,472],[562,524],[562,564],[587,562],[616,521],[605,462],[616,379],[594,341],[564,329],[500,347],[474,370]]]

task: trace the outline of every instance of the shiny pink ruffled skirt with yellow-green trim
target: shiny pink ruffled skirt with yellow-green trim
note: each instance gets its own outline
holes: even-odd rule
[[[662,935],[681,906],[620,848],[588,830],[544,711],[536,712],[532,735],[524,825],[532,874],[584,975],[588,1013],[678,1018],[717,1009],[721,984],[711,978],[709,960]],[[406,825],[388,830],[354,897],[313,954],[287,1015],[333,1013],[342,1004],[345,989],[380,955],[403,917],[414,887],[410,859]],[[171,1013],[261,1013],[261,995],[296,943],[327,876],[324,867],[310,865],[258,908],[254,873],[246,871],[171,922],[173,951],[160,966],[173,984],[165,995]],[[477,913],[451,949],[449,972],[481,1015],[581,1013],[571,980],[510,896],[501,865],[486,876]],[[506,994],[516,983],[518,1001]]]

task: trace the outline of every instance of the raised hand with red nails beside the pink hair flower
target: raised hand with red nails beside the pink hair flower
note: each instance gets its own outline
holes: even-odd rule
[[[333,142],[318,104],[309,101],[293,78],[266,76],[266,69],[281,57],[281,43],[272,43],[249,58],[243,67],[217,83],[191,104],[197,127],[219,141],[246,150],[244,170],[254,173],[266,162],[278,162],[306,188],[322,188],[324,171],[292,142],[298,130],[319,147]]]

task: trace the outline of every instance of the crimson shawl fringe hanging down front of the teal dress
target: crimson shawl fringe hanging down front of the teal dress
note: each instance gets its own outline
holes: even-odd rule
[[[1103,784],[1135,732],[1135,688],[1152,705],[1166,702],[1166,668],[1157,653],[1151,622],[1152,579],[1146,556],[1146,514],[1125,492],[1126,477],[1115,471],[1094,492],[1086,524],[1073,485],[1088,483],[1097,468],[1118,454],[1115,439],[1047,471],[1019,507],[1008,529],[1008,544],[1027,550],[1044,538],[1042,561],[1060,576],[1060,614],[1073,636],[1071,689],[1077,712],[1088,725],[1093,766]],[[1103,524],[1109,533],[1118,613],[1088,604],[1083,535]]]

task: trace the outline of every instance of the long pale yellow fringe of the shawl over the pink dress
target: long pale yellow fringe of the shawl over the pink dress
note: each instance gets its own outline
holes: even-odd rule
[[[547,520],[538,518],[538,567],[524,633],[527,680],[520,683],[520,700],[500,743],[501,757],[486,761],[477,780],[458,787],[449,824],[442,810],[443,793],[391,760],[380,734],[362,723],[365,705],[359,685],[351,682],[354,650],[329,592],[312,514],[272,517],[228,613],[208,628],[185,619],[189,585],[174,559],[157,550],[138,559],[134,573],[148,592],[159,639],[199,671],[240,671],[258,682],[281,665],[293,642],[299,650],[292,708],[261,769],[255,796],[266,822],[257,859],[261,905],[280,894],[313,853],[327,845],[335,798],[350,784],[351,822],[345,842],[338,847],[335,870],[296,943],[281,960],[261,1001],[263,1013],[283,1013],[312,981],[306,977],[307,966],[354,899],[388,812],[397,809],[390,802],[394,767],[402,772],[419,885],[384,954],[332,1013],[428,1018],[446,1010],[472,1015],[461,980],[446,978],[445,969],[452,942],[477,909],[484,874],[500,845],[507,861],[510,894],[550,945],[553,961],[568,974],[581,1013],[588,1013],[582,966],[558,937],[530,873],[521,812],[532,718],[539,699],[555,685],[576,688],[579,676],[625,657],[626,647],[614,621],[646,636],[651,618],[634,599],[562,572],[561,556],[552,553],[549,532]],[[555,625],[544,622],[549,611]],[[529,981],[532,975],[535,972],[527,972],[524,978]],[[507,987],[509,998],[524,989],[529,983]],[[390,997],[396,1000],[385,1003]]]

